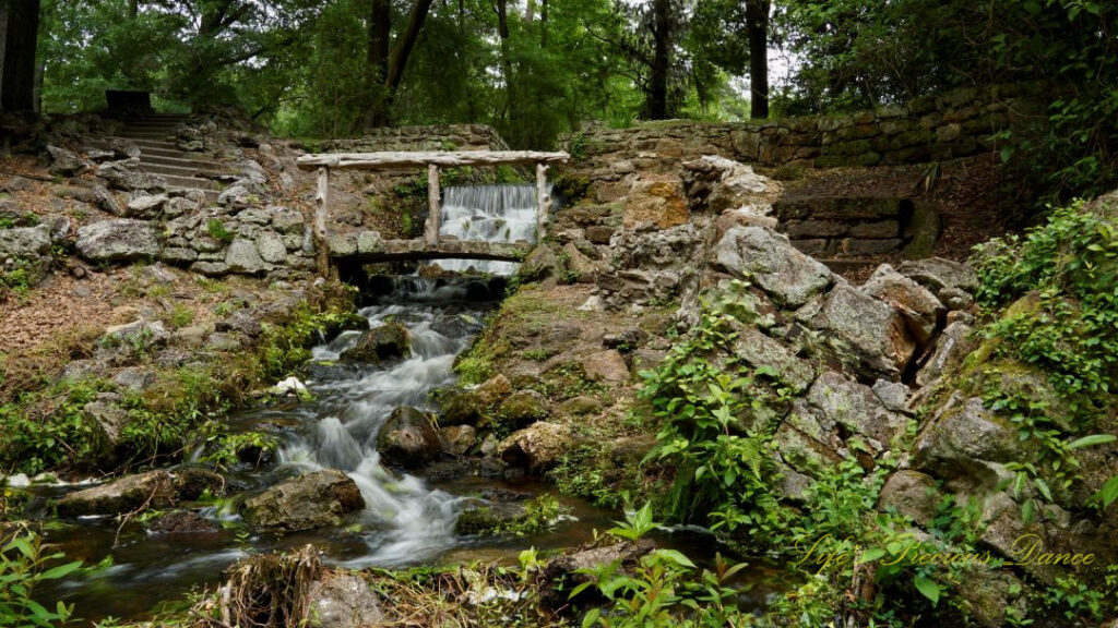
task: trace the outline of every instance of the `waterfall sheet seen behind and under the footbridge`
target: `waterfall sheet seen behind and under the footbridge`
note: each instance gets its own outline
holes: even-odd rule
[[[502,184],[451,185],[443,190],[439,235],[459,240],[486,242],[536,241],[536,185]],[[474,269],[494,275],[511,275],[515,261],[443,259],[445,270]]]

